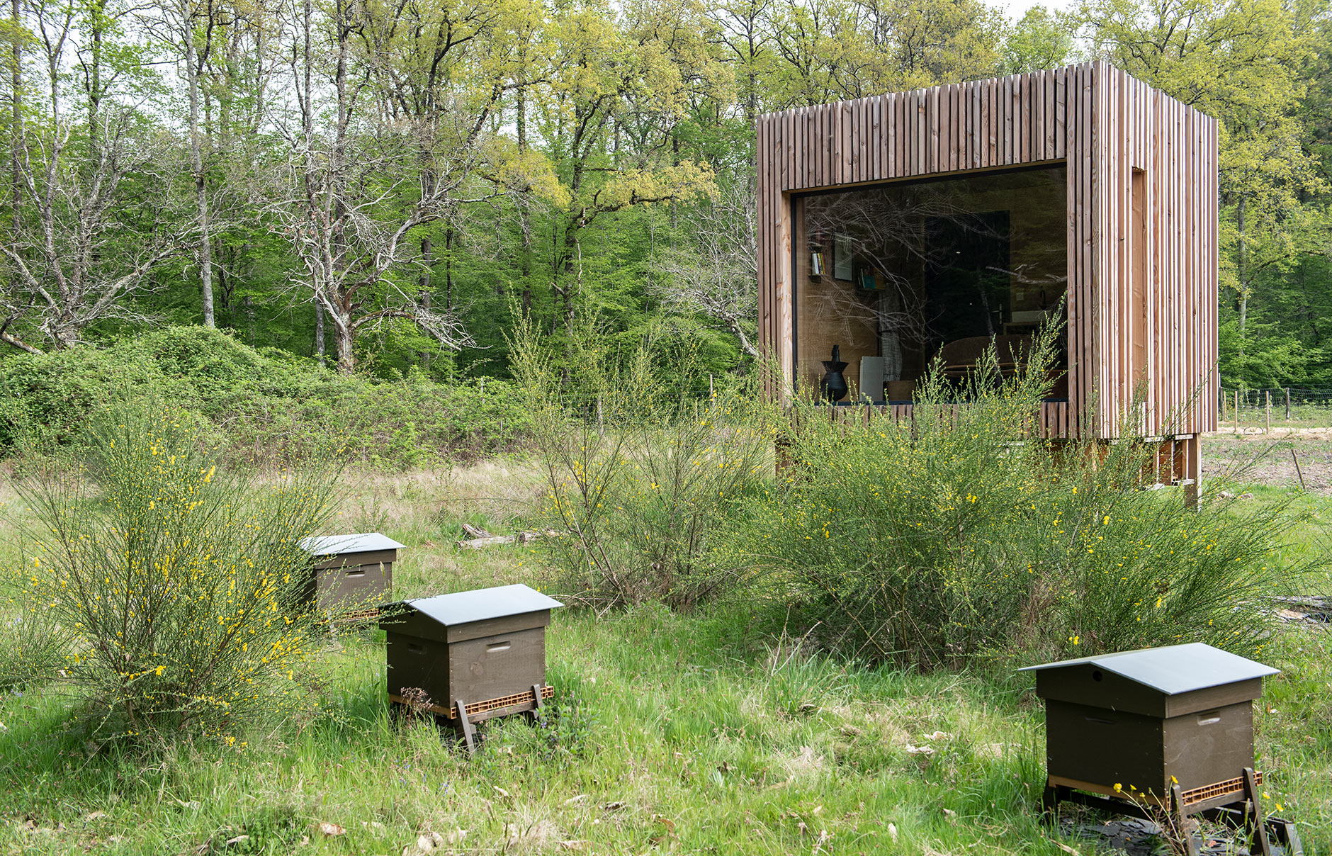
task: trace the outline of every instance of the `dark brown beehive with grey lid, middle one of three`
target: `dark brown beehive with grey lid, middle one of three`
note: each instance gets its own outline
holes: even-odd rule
[[[472,723],[533,711],[550,698],[546,626],[563,606],[527,586],[500,586],[394,604],[389,699]]]

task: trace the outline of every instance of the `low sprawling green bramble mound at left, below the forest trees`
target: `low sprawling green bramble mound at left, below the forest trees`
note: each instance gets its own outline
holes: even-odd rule
[[[0,362],[0,454],[77,442],[88,418],[135,391],[212,423],[228,457],[293,463],[334,455],[381,469],[470,459],[523,442],[530,419],[514,386],[342,377],[313,359],[254,350],[208,327],[166,327],[107,350],[23,354]]]

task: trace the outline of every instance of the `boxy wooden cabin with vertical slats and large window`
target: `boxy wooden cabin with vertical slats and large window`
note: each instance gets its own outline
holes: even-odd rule
[[[1020,363],[1067,321],[1047,438],[1136,421],[1196,493],[1216,429],[1217,122],[1104,63],[758,120],[759,341],[840,403],[910,418],[938,355]],[[1011,367],[1011,366],[1010,366]],[[1136,390],[1144,395],[1134,406]]]

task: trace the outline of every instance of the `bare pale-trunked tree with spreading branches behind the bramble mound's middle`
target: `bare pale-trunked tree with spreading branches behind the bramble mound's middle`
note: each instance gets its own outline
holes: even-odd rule
[[[510,162],[521,158],[490,126],[514,84],[507,47],[490,39],[496,16],[488,8],[478,3],[476,15],[438,21],[441,37],[429,51],[450,72],[424,87],[394,79],[382,63],[396,47],[421,47],[420,39],[404,41],[402,32],[420,29],[400,31],[402,7],[334,0],[328,19],[316,16],[310,0],[292,8],[300,126],[284,130],[290,157],[269,212],[302,261],[301,288],[332,326],[340,371],[354,369],[361,331],[394,318],[412,321],[446,351],[473,343],[458,308],[421,300],[429,277],[408,269],[421,226],[513,192],[496,177],[511,176]],[[332,41],[324,52],[316,45],[321,27]],[[332,101],[328,122],[318,95]],[[429,253],[422,256],[428,262]]]

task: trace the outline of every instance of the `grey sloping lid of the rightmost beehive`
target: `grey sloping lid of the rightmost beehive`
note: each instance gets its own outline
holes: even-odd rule
[[[1082,666],[1083,663],[1091,663],[1164,695],[1179,695],[1253,678],[1267,678],[1281,671],[1201,642],[1042,663],[1018,671],[1039,672]]]

